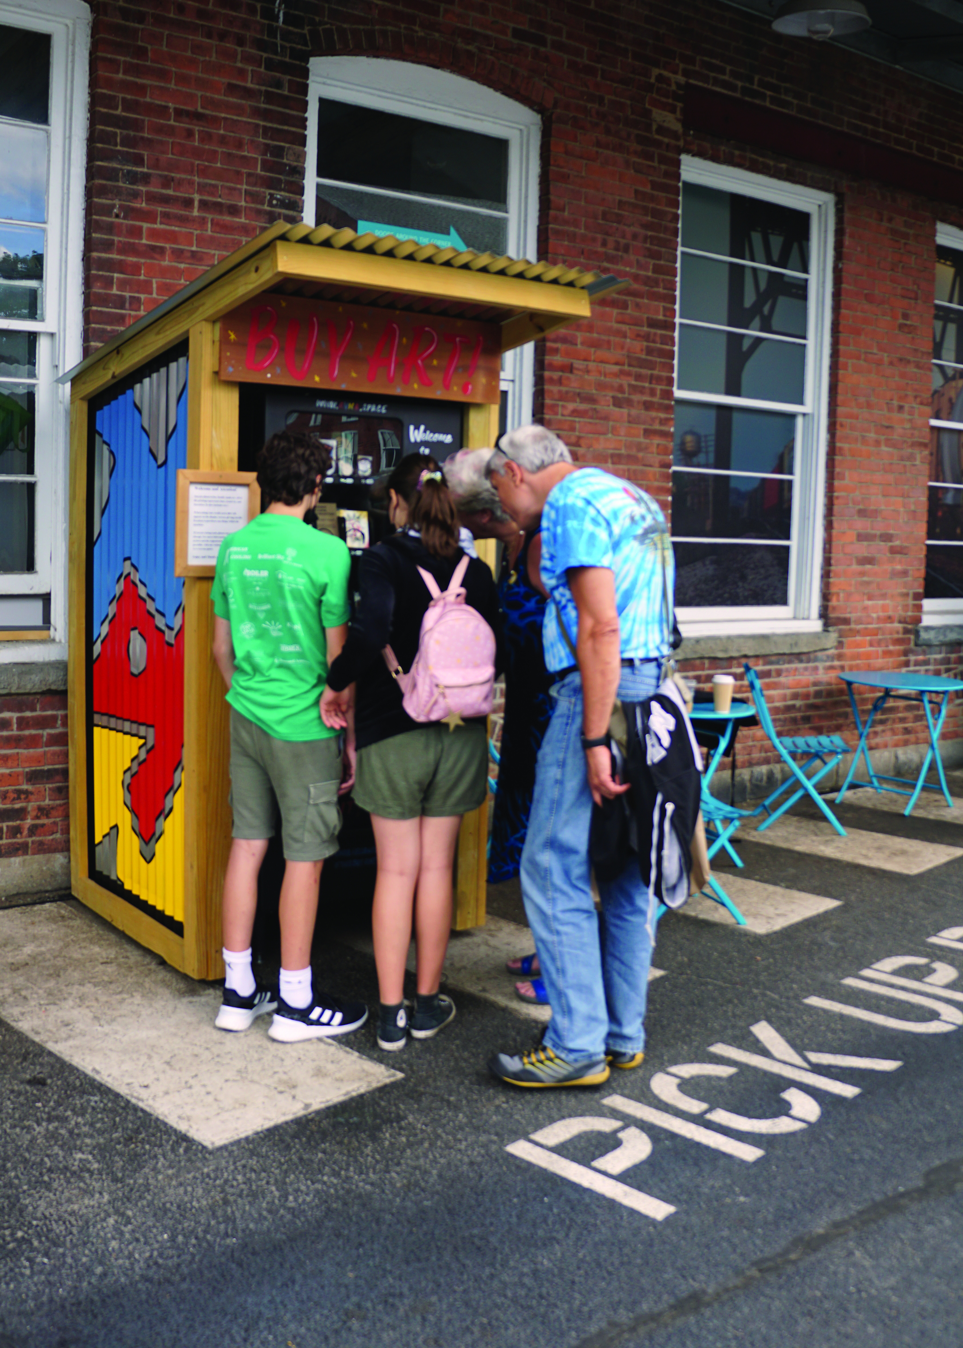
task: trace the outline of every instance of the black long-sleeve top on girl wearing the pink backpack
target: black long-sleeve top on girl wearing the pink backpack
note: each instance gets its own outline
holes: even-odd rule
[[[360,597],[348,640],[328,670],[328,685],[336,693],[357,683],[355,735],[359,749],[418,728],[418,721],[402,708],[402,690],[388,673],[382,650],[390,646],[401,667],[411,669],[421,620],[432,600],[417,568],[430,572],[444,590],[463,555],[459,549],[452,558],[434,557],[419,538],[394,534],[361,557]],[[479,611],[495,634],[495,670],[502,673],[504,650],[495,580],[486,563],[473,557],[463,585],[465,603]]]

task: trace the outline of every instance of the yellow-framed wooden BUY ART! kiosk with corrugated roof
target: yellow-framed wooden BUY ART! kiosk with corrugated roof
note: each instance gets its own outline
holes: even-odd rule
[[[244,446],[293,419],[321,434],[325,418],[364,422],[374,448],[357,449],[356,429],[330,441],[348,485],[418,437],[433,452],[494,445],[502,352],[587,318],[591,297],[616,287],[579,267],[276,224],[65,376],[82,903],[192,977],[223,975],[228,706],[213,569],[175,563],[178,473],[236,484]],[[432,431],[433,417],[448,429]],[[484,922],[486,844],[483,806],[459,840],[459,929]]]

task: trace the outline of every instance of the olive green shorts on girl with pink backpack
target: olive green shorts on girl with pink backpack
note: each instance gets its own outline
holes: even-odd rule
[[[453,731],[441,723],[419,725],[357,751],[355,799],[383,820],[467,814],[477,810],[487,789],[484,721]]]

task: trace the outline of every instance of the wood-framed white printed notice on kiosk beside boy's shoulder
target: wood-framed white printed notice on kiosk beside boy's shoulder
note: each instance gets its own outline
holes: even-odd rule
[[[260,510],[256,473],[177,474],[175,576],[213,576],[228,534],[244,528]]]

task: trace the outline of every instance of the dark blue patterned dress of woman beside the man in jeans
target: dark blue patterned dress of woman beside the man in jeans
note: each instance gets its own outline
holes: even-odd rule
[[[535,756],[552,716],[552,678],[542,654],[542,620],[548,601],[527,573],[529,545],[534,537],[526,535],[514,568],[503,574],[498,586],[506,673],[502,762],[488,857],[491,884],[518,875],[535,789]]]

